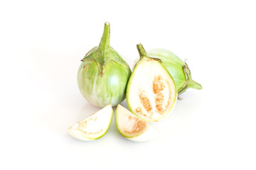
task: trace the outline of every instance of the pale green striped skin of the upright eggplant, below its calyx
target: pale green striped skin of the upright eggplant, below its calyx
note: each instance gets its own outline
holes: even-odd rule
[[[111,103],[117,106],[124,101],[130,74],[129,69],[111,61],[101,77],[95,61],[82,62],[78,70],[78,87],[82,96],[92,105],[102,108]]]

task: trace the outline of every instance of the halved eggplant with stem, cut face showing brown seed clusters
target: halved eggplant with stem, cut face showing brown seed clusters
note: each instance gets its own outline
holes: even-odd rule
[[[137,45],[137,49],[140,60],[127,85],[127,105],[132,113],[146,122],[158,122],[174,109],[176,85],[161,60],[147,57],[142,44]]]

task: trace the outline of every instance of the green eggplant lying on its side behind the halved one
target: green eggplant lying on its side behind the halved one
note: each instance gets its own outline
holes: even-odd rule
[[[202,89],[201,84],[193,81],[191,71],[186,62],[183,62],[173,52],[165,49],[153,49],[147,51],[149,57],[158,58],[161,64],[168,70],[174,78],[178,95],[183,94],[187,89]]]

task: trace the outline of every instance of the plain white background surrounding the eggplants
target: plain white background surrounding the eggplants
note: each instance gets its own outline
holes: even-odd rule
[[[0,169],[256,169],[254,3],[1,1]],[[126,140],[114,121],[93,142],[66,132],[100,109],[82,98],[76,74],[105,21],[131,67],[137,43],[166,48],[203,86],[154,124],[155,140]]]

